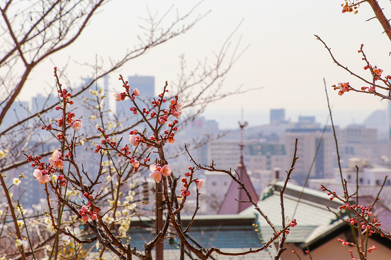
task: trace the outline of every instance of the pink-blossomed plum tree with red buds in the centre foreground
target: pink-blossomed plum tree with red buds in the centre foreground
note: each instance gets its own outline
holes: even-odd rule
[[[55,109],[61,116],[55,125],[43,122],[42,130],[49,131],[55,136],[58,142],[58,149],[52,152],[48,160],[44,160],[42,156],[26,155],[26,161],[30,162],[34,169],[30,178],[34,178],[44,185],[46,193],[47,212],[45,218],[36,220],[36,222],[42,223],[44,221],[46,226],[53,231],[53,236],[57,238],[57,241],[54,244],[34,241],[33,237],[30,236],[29,228],[25,224],[26,219],[24,218],[23,210],[18,205],[21,212],[21,215],[18,214],[18,216],[24,221],[24,226],[18,222],[20,220],[17,216],[13,216],[12,219],[15,221],[16,227],[15,246],[19,249],[21,259],[29,257],[43,259],[45,253],[42,253],[42,246],[45,244],[50,252],[46,256],[47,259],[50,259],[52,256],[75,259],[77,254],[79,254],[80,258],[80,256],[87,255],[87,249],[83,251],[78,246],[91,243],[95,243],[98,248],[101,247],[99,258],[102,257],[105,250],[109,250],[118,258],[124,260],[130,260],[132,256],[141,260],[152,260],[152,250],[156,248],[156,258],[162,259],[163,243],[169,227],[174,229],[180,240],[180,259],[184,259],[185,247],[195,253],[198,258],[206,260],[213,252],[232,256],[257,253],[267,248],[274,240],[280,240],[280,248],[275,259],[280,258],[281,253],[284,251],[283,241],[285,234],[289,233],[288,230],[297,224],[296,220],[291,220],[285,224],[285,218],[282,214],[283,228],[277,230],[274,224],[268,220],[267,216],[263,214],[254,200],[252,200],[248,192],[249,202],[254,204],[256,209],[273,228],[273,238],[258,249],[250,248],[247,251],[236,253],[223,252],[213,246],[209,249],[201,250],[188,241],[185,234],[191,230],[193,220],[198,211],[200,190],[205,183],[205,180],[197,178],[196,170],[206,168],[195,164],[196,167],[190,166],[189,171],[184,173],[185,177],[181,178],[178,173],[172,172],[169,162],[166,160],[164,147],[175,142],[175,132],[178,130],[177,125],[185,105],[183,101],[180,101],[178,95],[170,96],[167,82],[158,99],[153,99],[151,108],[148,108],[139,105],[139,99],[143,93],[140,93],[137,88],[130,89],[128,82],[120,75],[119,80],[122,82],[123,92],[115,93],[114,99],[118,102],[130,99],[133,104],[130,107],[130,111],[133,114],[139,114],[147,127],[143,131],[132,129],[129,133],[129,143],[127,142],[126,144],[123,143],[124,140],[122,138],[120,140],[117,139],[118,133],[109,133],[106,129],[98,127],[97,131],[100,133],[101,140],[99,143],[96,143],[92,154],[99,158],[100,170],[97,174],[93,174],[84,168],[83,158],[81,160],[78,158],[75,149],[79,144],[78,139],[82,138],[81,135],[78,135],[78,132],[82,129],[84,120],[77,119],[80,115],[71,112],[73,96],[60,83],[56,67],[54,68],[54,76],[57,82],[59,97],[61,98],[61,104],[56,106]],[[169,105],[166,106],[166,103],[169,103]],[[144,153],[140,149],[142,147],[145,147],[149,153]],[[151,160],[151,153],[156,154],[155,159]],[[114,173],[111,173],[109,178],[110,180],[115,180],[115,182],[111,191],[112,199],[109,199],[108,204],[104,200],[107,194],[103,181],[107,179],[109,174],[106,170],[103,170],[103,158],[105,156],[112,162],[115,162],[113,163]],[[281,190],[282,213],[283,192],[287,181],[290,179],[289,176],[296,160],[295,153],[292,167],[287,174],[285,186]],[[135,186],[133,183],[130,183],[129,186],[125,185],[127,180],[129,180],[125,171],[127,168],[130,168],[130,172],[133,173],[149,169],[149,176],[156,184],[156,235],[151,241],[145,243],[143,250],[131,247],[128,236],[131,226],[130,220],[137,214],[137,204],[142,202],[134,202],[130,198],[134,195],[133,189]],[[216,169],[210,168],[209,170]],[[230,171],[219,171],[227,173],[246,190],[246,187],[235,174]],[[195,186],[195,194],[191,192],[190,188],[192,186]],[[179,188],[180,191],[177,191]],[[123,192],[126,191],[128,191],[129,195],[124,200]],[[51,193],[53,193],[53,196],[50,196]],[[7,192],[6,195],[10,197]],[[194,210],[192,221],[186,228],[182,228],[181,211],[189,196],[195,196],[197,207]],[[58,204],[57,208],[53,207],[53,200],[57,201],[54,202]],[[122,212],[121,208],[124,208]],[[162,218],[163,214],[166,216],[164,221]],[[84,226],[83,232],[80,231],[80,221],[82,221]],[[58,248],[63,248],[63,250]],[[76,251],[77,253],[75,254]]]

